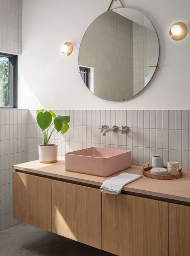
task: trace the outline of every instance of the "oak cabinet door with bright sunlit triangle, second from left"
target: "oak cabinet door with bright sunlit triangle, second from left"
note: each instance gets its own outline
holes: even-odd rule
[[[52,231],[102,249],[100,189],[52,180]]]

